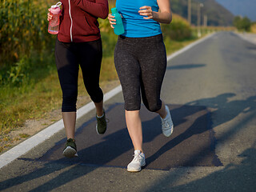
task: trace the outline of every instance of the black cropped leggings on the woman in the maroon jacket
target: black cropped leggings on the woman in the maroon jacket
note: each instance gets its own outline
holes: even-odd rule
[[[82,69],[83,82],[93,102],[101,102],[99,87],[102,62],[102,40],[94,42],[59,42],[55,44],[55,61],[62,87],[62,112],[76,111],[78,98],[78,70]]]

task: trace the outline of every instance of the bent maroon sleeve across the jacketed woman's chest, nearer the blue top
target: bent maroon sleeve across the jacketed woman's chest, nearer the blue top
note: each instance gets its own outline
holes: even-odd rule
[[[71,0],[80,9],[94,15],[97,18],[106,18],[109,14],[109,6],[107,0],[95,0],[89,2],[87,0]]]

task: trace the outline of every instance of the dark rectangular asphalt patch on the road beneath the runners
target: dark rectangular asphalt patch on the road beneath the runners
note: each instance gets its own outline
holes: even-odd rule
[[[142,106],[144,152],[150,157],[146,158],[146,168],[170,170],[176,166],[221,166],[221,162],[214,160],[218,158],[214,154],[214,132],[211,130],[210,112],[206,107],[172,105],[170,109],[175,131],[170,138],[166,138],[162,135],[158,114],[150,113]],[[65,142],[63,140],[38,160],[126,167],[132,158],[133,146],[122,111],[121,103],[106,111],[110,122],[103,136],[95,134],[95,122],[86,122],[79,128],[76,135],[80,147],[78,158],[60,158]],[[198,151],[201,152],[198,154]]]

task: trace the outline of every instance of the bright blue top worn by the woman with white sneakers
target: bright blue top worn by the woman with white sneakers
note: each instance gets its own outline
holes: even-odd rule
[[[146,38],[162,34],[160,23],[153,19],[145,19],[138,13],[142,6],[151,6],[153,11],[158,11],[157,0],[117,0],[116,7],[122,14],[122,22],[128,38]]]

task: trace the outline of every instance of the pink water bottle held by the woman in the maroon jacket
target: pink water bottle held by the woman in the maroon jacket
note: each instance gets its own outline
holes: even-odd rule
[[[48,32],[50,34],[58,34],[61,6],[62,2],[57,2],[56,5],[50,7],[50,14],[53,15],[53,18],[50,20],[48,26]]]

